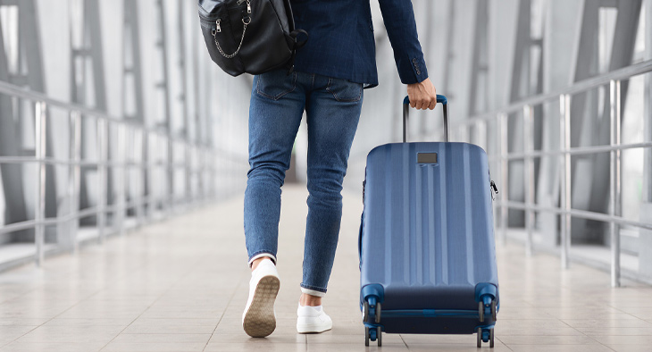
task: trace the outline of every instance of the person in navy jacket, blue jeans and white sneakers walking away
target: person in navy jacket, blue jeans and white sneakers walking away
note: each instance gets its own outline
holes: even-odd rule
[[[410,104],[434,109],[410,0],[378,0]],[[307,199],[303,282],[297,331],[332,328],[324,312],[342,217],[342,181],[360,119],[364,88],[378,85],[369,0],[290,0],[296,27],[310,38],[297,50],[295,70],[254,77],[249,107],[249,165],[245,191],[245,238],[251,268],[242,326],[261,338],[276,328],[274,301],[280,188],[303,113],[308,126]]]

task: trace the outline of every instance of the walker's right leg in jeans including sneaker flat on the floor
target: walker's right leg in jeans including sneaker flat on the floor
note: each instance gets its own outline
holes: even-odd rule
[[[319,332],[327,323],[305,318],[305,307],[318,306],[326,293],[338,246],[342,218],[342,181],[362,109],[362,84],[317,76],[306,104],[308,123],[308,217],[305,228],[304,280],[297,330]],[[317,313],[312,313],[317,316]],[[325,314],[323,314],[325,315]],[[316,318],[315,318],[316,319]],[[328,316],[324,317],[330,323]],[[303,323],[302,323],[303,322]],[[330,323],[330,326],[332,323]],[[328,329],[330,329],[330,326]],[[303,327],[300,329],[300,327]],[[323,330],[322,330],[323,331]]]

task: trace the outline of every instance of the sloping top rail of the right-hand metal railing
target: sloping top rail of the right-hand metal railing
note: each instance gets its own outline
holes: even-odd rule
[[[635,63],[622,69],[609,71],[596,77],[591,77],[587,80],[581,80],[573,83],[573,85],[559,88],[548,93],[540,94],[539,96],[529,96],[510,105],[493,110],[489,113],[478,113],[469,117],[466,120],[452,120],[455,126],[464,126],[479,121],[487,121],[496,118],[498,113],[515,113],[521,111],[525,105],[540,105],[550,100],[557,99],[559,96],[573,95],[582,93],[593,88],[605,86],[612,80],[627,80],[632,76],[647,73],[652,71],[652,60],[644,61],[642,63]]]

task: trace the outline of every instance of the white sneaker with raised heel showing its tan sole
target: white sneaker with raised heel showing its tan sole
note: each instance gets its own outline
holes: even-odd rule
[[[279,272],[271,260],[263,260],[251,272],[249,299],[242,314],[242,327],[252,338],[264,338],[276,329],[274,300],[279,287]]]

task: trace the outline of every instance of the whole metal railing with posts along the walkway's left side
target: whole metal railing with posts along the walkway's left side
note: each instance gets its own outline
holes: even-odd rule
[[[34,137],[36,147],[34,154],[28,156],[0,156],[0,164],[30,163],[37,165],[38,177],[34,186],[37,189],[38,197],[35,204],[35,215],[33,219],[0,224],[0,235],[18,230],[34,229],[34,243],[36,245],[34,258],[37,265],[42,264],[44,260],[45,229],[47,226],[70,223],[71,229],[65,230],[64,234],[67,239],[70,239],[70,242],[59,243],[57,248],[71,246],[71,251],[76,252],[79,247],[79,239],[77,237],[78,224],[75,221],[88,216],[96,216],[98,230],[96,239],[102,243],[106,236],[106,230],[110,226],[113,229],[118,229],[119,233],[124,233],[124,230],[126,230],[124,220],[128,210],[133,209],[135,211],[137,226],[140,226],[153,219],[154,212],[158,211],[159,205],[162,206],[161,211],[167,213],[173,211],[173,208],[177,207],[177,205],[204,204],[205,201],[218,197],[219,193],[214,182],[215,173],[223,172],[221,174],[222,178],[229,182],[235,180],[239,168],[236,162],[247,160],[246,157],[243,158],[242,155],[225,150],[219,145],[173,136],[169,130],[164,130],[161,127],[147,127],[142,122],[121,119],[93,108],[66,103],[43,93],[21,88],[4,81],[0,81],[0,95],[27,100],[35,107],[33,118],[35,119]],[[48,139],[46,130],[49,129],[50,125],[48,114],[51,113],[48,108],[51,106],[70,115],[67,127],[71,132],[69,136],[70,154],[63,157],[46,155],[46,141]],[[97,122],[97,156],[92,159],[81,157],[82,119],[91,119]],[[116,138],[118,139],[118,150],[115,155],[111,156],[108,154],[107,143],[107,139],[112,136],[109,134],[110,127],[116,128]],[[131,138],[128,136],[131,136]],[[141,138],[134,138],[134,136],[141,136]],[[132,141],[131,148],[125,147],[126,138],[130,138]],[[166,145],[167,154],[163,153],[163,155],[155,156],[147,153],[144,158],[138,157],[140,148],[151,150],[151,141],[155,141],[157,146],[159,143]],[[184,155],[182,162],[171,156],[170,148],[179,148],[179,151]],[[69,209],[64,212],[65,214],[46,217],[46,165],[65,166],[68,169],[67,186],[63,188],[63,192],[66,197],[71,199],[71,204]],[[242,166],[244,170],[244,163]],[[101,196],[98,197],[96,205],[79,209],[80,172],[84,168],[96,168],[98,173],[96,186],[98,194]],[[186,191],[183,195],[177,196],[174,194],[172,182],[165,182],[167,187],[163,191],[159,189],[156,193],[150,191],[144,194],[144,187],[152,181],[152,175],[161,169],[166,173],[184,171]],[[108,204],[108,199],[105,196],[107,192],[107,174],[110,170],[119,173],[116,180],[114,180],[114,186],[117,189],[115,194],[119,196],[113,205]],[[138,180],[134,182],[134,176],[129,176],[130,172],[137,172],[135,177]],[[196,180],[194,188],[190,186],[192,180]],[[128,196],[129,190],[135,193]],[[153,207],[155,207],[155,210],[153,210]],[[107,224],[107,214],[115,214],[113,217],[115,225]]]

